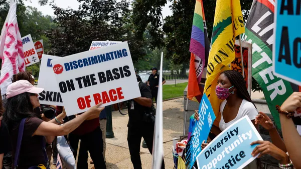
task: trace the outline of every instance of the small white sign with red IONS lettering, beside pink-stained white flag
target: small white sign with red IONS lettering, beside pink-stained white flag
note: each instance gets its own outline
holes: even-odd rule
[[[39,62],[39,56],[37,54],[33,39],[31,35],[26,35],[22,37],[23,51],[25,56],[25,65],[29,66],[34,63]]]

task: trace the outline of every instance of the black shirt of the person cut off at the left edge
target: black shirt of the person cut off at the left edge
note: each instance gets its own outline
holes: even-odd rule
[[[10,134],[7,125],[3,120],[0,120],[0,154],[8,153],[12,150],[12,145],[10,141]]]

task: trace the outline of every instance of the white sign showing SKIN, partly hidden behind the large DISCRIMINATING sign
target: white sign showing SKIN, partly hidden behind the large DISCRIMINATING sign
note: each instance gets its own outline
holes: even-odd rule
[[[44,88],[40,93],[39,100],[41,104],[63,105],[60,88],[56,82],[52,68],[52,60],[61,59],[58,56],[43,54],[41,61],[38,87]]]

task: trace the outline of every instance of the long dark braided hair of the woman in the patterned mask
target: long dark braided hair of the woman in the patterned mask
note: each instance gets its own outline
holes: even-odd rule
[[[225,74],[228,77],[231,84],[236,88],[237,95],[240,98],[246,99],[247,101],[250,101],[254,104],[246,87],[246,81],[244,80],[240,72],[236,70],[225,70],[221,74]],[[254,106],[256,107],[255,104]]]

